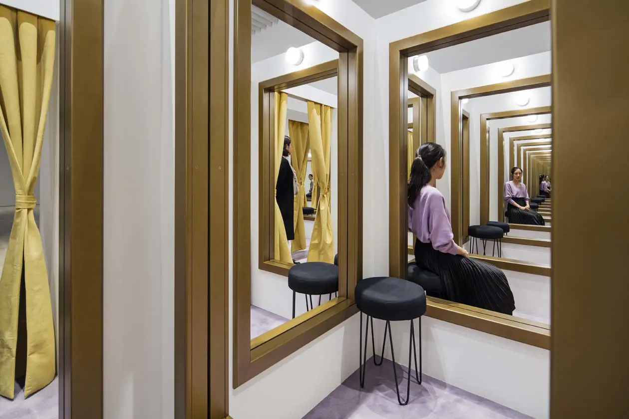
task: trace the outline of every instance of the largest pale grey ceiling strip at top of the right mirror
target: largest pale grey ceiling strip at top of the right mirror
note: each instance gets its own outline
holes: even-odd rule
[[[428,63],[438,73],[497,63],[550,51],[550,22],[526,26],[479,40],[429,52]]]

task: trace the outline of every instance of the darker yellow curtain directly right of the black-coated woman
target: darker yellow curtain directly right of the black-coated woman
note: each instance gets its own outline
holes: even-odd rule
[[[308,165],[308,150],[310,150],[310,136],[308,124],[299,121],[288,121],[288,135],[291,137],[291,163],[297,173],[299,192],[294,199],[294,228],[295,239],[291,243],[291,251],[306,249],[306,232],[304,232],[304,201],[306,200],[306,166]]]

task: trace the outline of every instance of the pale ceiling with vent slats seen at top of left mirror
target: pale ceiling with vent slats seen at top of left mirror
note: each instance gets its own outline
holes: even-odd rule
[[[294,46],[308,45],[315,42],[314,38],[306,35],[302,31],[293,28],[291,25],[284,21],[281,21],[274,16],[262,11],[255,6],[251,7],[252,15],[252,37],[251,37],[251,62],[257,63],[270,57],[285,53],[288,48]],[[270,26],[260,28],[263,18],[260,16],[266,15],[266,21],[270,21],[268,18],[275,19]],[[254,26],[255,25],[255,26]]]

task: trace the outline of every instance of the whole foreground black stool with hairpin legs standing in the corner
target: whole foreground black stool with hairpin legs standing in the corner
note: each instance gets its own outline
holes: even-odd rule
[[[374,351],[374,364],[382,365],[384,360],[384,348],[389,332],[389,344],[391,344],[391,358],[393,361],[393,375],[395,387],[398,392],[398,403],[408,405],[411,394],[411,355],[415,355],[415,378],[421,384],[421,316],[426,313],[426,294],[421,286],[411,281],[399,278],[379,277],[366,278],[356,285],[354,298],[356,306],[360,310],[360,387],[365,386],[365,370],[367,368],[367,335],[369,335],[369,323],[371,323],[371,346]],[[365,352],[362,352],[362,314],[367,315],[365,329]],[[385,320],[384,342],[382,342],[382,354],[380,362],[376,362],[376,342],[374,340],[374,317]],[[415,325],[413,320],[420,318],[420,367],[417,368],[417,348],[415,345]],[[399,396],[398,373],[395,369],[395,354],[393,351],[393,337],[391,335],[391,322],[410,320],[411,335],[408,344],[408,380],[406,381],[406,401]]]

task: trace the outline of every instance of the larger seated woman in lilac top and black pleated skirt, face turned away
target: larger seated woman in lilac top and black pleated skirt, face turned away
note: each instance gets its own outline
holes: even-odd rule
[[[444,298],[511,315],[515,303],[503,271],[469,259],[467,251],[454,242],[443,195],[428,184],[441,179],[444,171],[443,147],[423,144],[415,154],[408,181],[408,229],[417,237],[415,261],[442,278]]]

